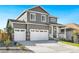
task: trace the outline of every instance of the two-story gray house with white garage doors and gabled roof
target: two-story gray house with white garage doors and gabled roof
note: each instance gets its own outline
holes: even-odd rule
[[[9,19],[7,30],[11,31],[12,40],[49,40],[59,37],[62,24],[57,23],[57,17],[50,16],[40,6],[25,10],[16,20]]]

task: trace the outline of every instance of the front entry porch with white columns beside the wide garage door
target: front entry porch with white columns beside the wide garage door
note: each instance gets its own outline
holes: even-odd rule
[[[58,40],[62,27],[64,27],[62,24],[51,24],[51,25],[49,25],[49,37],[51,39]]]

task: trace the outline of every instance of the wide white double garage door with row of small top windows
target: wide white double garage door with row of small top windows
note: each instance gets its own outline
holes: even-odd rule
[[[48,40],[48,30],[30,30],[30,40]]]

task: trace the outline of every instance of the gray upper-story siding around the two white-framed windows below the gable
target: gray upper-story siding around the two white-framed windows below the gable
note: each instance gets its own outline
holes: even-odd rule
[[[48,15],[46,14],[46,22],[41,22],[41,14],[36,13],[36,21],[30,21],[30,13],[32,12],[27,12],[27,22],[29,23],[38,23],[38,24],[48,24]]]

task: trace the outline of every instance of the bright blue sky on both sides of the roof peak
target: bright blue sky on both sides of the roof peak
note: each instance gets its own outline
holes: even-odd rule
[[[8,19],[16,19],[24,10],[35,5],[0,5],[0,29],[6,27]],[[41,5],[50,15],[58,17],[58,23],[79,24],[79,5]]]

